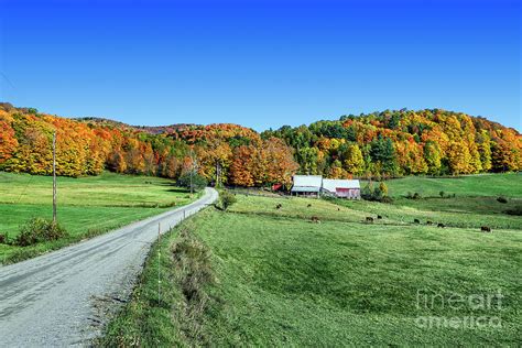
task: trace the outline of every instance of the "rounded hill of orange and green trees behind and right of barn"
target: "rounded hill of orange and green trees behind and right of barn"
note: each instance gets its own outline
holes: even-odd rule
[[[269,130],[295,150],[300,172],[327,177],[459,175],[522,168],[519,132],[442,109],[387,110]]]

